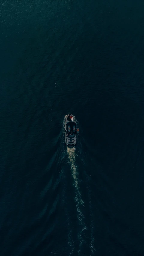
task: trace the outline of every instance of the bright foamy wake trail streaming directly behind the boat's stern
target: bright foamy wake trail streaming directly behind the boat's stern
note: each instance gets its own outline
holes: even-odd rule
[[[78,237],[80,240],[78,253],[80,255],[81,245],[85,242],[85,240],[82,237],[82,233],[84,230],[87,230],[87,227],[85,226],[85,223],[84,223],[84,216],[80,209],[80,207],[84,204],[84,202],[82,200],[82,197],[80,194],[80,189],[79,189],[79,184],[78,184],[78,171],[77,171],[77,166],[76,166],[76,149],[67,147],[67,154],[68,154],[69,163],[71,165],[74,186],[76,189],[75,201],[76,201],[76,209],[78,212],[78,220],[79,220],[79,224],[82,226],[82,230],[78,233]]]

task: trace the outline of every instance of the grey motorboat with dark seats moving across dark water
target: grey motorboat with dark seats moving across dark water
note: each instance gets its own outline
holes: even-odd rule
[[[65,119],[65,144],[69,148],[76,145],[76,134],[79,128],[76,126],[76,119],[72,114],[68,114]]]

